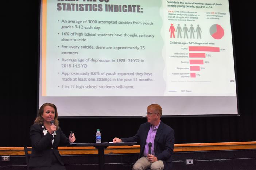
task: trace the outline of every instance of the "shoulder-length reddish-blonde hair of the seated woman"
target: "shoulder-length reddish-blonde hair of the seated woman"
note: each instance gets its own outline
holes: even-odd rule
[[[51,107],[54,108],[54,113],[55,113],[54,124],[55,124],[55,126],[57,127],[57,130],[58,130],[59,129],[59,121],[58,121],[57,107],[52,103],[45,103],[40,107],[40,109],[38,110],[37,117],[34,121],[34,124],[39,124],[39,125],[43,124],[43,122],[44,122],[44,120],[43,120],[43,111],[44,111],[45,106],[51,106]]]

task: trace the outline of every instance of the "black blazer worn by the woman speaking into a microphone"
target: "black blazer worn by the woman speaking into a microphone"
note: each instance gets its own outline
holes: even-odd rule
[[[56,131],[53,138],[49,132],[44,135],[43,125],[34,124],[30,127],[30,138],[32,142],[32,153],[28,165],[30,167],[50,167],[52,161],[52,154],[57,160],[64,165],[61,161],[61,155],[58,151],[58,146],[66,146],[69,144],[69,138],[63,134],[61,128]],[[52,140],[54,143],[52,144]]]

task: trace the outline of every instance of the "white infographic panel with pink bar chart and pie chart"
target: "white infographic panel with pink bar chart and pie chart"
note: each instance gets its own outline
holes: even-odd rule
[[[163,21],[166,93],[235,95],[228,1],[164,1]]]

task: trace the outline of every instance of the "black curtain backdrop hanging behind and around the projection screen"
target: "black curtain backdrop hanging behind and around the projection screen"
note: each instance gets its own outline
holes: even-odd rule
[[[231,2],[240,116],[162,118],[175,130],[175,143],[256,141],[256,15],[251,3]],[[39,1],[8,5],[9,12],[1,24],[5,31],[1,52],[4,88],[0,147],[31,146],[29,128],[37,112]],[[147,106],[141,107],[146,110]],[[73,130],[77,142],[95,142],[96,129],[101,131],[102,142],[110,142],[114,137],[134,135],[143,122],[146,119],[70,118],[60,119],[60,126],[66,135]]]

